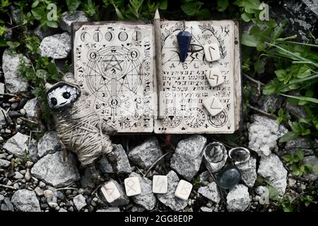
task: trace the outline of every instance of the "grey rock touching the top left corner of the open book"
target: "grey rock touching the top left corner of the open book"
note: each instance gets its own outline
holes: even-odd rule
[[[68,31],[71,33],[71,24],[74,22],[88,22],[88,18],[83,11],[75,11],[74,13],[64,12],[61,15],[61,21],[59,27],[62,30]]]

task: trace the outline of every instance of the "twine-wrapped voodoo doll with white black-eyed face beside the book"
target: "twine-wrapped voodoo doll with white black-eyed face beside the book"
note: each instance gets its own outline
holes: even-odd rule
[[[108,135],[116,130],[90,108],[76,81],[67,75],[64,81],[45,85],[46,100],[52,109],[62,148],[76,153],[81,165],[87,166],[102,154],[112,152]]]

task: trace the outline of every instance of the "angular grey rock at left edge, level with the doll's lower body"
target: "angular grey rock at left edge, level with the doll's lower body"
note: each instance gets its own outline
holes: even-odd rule
[[[18,132],[6,141],[4,149],[16,157],[23,157],[25,150],[28,150],[28,142],[29,136]]]

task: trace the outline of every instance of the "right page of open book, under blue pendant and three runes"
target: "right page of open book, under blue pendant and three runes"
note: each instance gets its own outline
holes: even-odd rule
[[[155,133],[233,133],[240,121],[240,44],[233,20],[161,21],[161,59],[158,76],[158,119]],[[187,58],[181,61],[177,34],[192,34]],[[206,44],[216,43],[217,61],[207,61]],[[206,73],[220,70],[220,85],[212,87]],[[214,96],[222,111],[214,116],[204,100]],[[214,98],[213,97],[213,98]],[[206,105],[220,107],[213,102]]]

